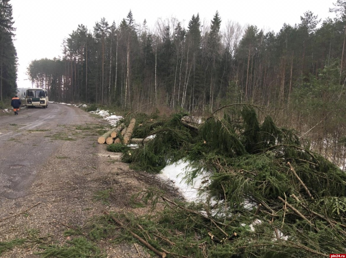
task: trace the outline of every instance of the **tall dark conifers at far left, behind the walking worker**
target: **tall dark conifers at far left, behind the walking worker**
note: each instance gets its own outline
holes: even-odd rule
[[[0,102],[17,90],[17,52],[13,45],[12,5],[0,0]]]

